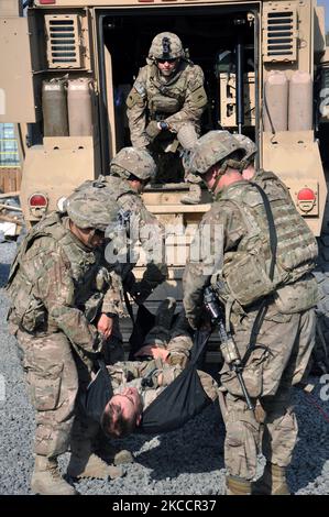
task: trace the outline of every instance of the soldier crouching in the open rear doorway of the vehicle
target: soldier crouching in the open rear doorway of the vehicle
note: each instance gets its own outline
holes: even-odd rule
[[[177,180],[177,147],[190,148],[200,132],[207,105],[204,73],[185,57],[179,37],[171,32],[154,37],[146,62],[127,99],[131,142],[156,156],[157,179]],[[190,191],[182,202],[200,202],[198,176],[186,173],[185,180]]]

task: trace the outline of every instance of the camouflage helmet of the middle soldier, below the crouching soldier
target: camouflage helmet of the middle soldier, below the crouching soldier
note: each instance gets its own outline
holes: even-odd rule
[[[143,148],[123,147],[110,163],[110,174],[124,179],[133,175],[143,182],[150,182],[154,179],[155,173],[156,164]]]

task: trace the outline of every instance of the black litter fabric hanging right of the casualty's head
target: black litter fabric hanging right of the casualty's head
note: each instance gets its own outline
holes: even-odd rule
[[[150,435],[178,429],[212,402],[202,388],[196,366],[209,337],[209,332],[196,333],[190,363],[143,411],[138,432]]]

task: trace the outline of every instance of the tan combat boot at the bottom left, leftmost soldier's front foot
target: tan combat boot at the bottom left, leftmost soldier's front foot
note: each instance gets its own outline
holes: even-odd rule
[[[31,481],[34,494],[40,495],[77,495],[78,492],[59,474],[55,458],[35,457]]]

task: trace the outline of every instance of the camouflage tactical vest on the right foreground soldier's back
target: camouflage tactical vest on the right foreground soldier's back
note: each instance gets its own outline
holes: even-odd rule
[[[268,276],[272,261],[270,231],[263,199],[248,182],[232,185],[220,200],[232,202],[240,211],[245,235],[237,250],[224,254],[219,285],[232,300],[246,307],[292,284],[315,267],[317,242],[284,189],[266,189],[275,222],[277,250],[273,280]]]

